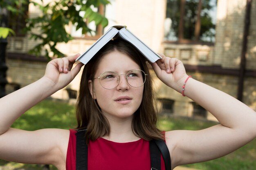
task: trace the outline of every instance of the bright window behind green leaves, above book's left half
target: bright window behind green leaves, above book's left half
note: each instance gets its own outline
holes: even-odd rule
[[[79,7],[77,7],[79,8]],[[101,4],[98,8],[93,8],[92,9],[94,12],[98,12],[101,15],[104,15],[105,13],[105,7]],[[85,11],[80,11],[79,13],[80,16],[84,16],[85,15]],[[92,22],[88,22],[88,20],[85,20],[86,25],[88,26],[88,28],[90,28],[92,30],[91,33],[86,33],[83,34],[82,33],[82,29],[79,28],[78,30],[76,30],[76,25],[72,25],[71,28],[71,35],[72,37],[80,37],[80,38],[99,38],[101,35],[103,35],[103,27],[101,26],[101,24],[96,25],[94,21]]]

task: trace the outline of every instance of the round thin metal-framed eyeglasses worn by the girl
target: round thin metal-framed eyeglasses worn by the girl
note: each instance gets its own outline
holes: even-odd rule
[[[146,76],[142,70],[130,70],[127,74],[117,74],[117,72],[103,72],[99,77],[99,83],[105,89],[114,89],[119,85],[120,76],[125,75],[127,83],[132,87],[141,87],[146,81]],[[93,78],[96,79],[96,78]]]

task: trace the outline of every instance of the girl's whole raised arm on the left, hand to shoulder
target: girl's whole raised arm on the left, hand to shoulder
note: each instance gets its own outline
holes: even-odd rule
[[[59,152],[53,148],[63,138],[57,139],[56,135],[66,139],[67,132],[56,129],[29,132],[10,129],[10,126],[25,111],[74,79],[82,66],[79,63],[72,69],[78,56],[50,61],[42,78],[0,99],[0,159],[21,163],[49,163],[47,154],[49,156],[52,152]]]

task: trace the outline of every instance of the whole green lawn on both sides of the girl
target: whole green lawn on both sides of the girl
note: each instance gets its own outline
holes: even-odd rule
[[[215,124],[215,122],[187,118],[159,119],[159,128],[164,131],[175,129],[198,130]],[[74,128],[76,127],[74,106],[68,105],[66,102],[44,100],[21,116],[12,127],[31,131],[42,128]],[[187,166],[201,170],[255,170],[255,146],[256,139],[225,157]],[[43,170],[43,168],[40,165],[12,163],[0,159],[0,170]],[[51,167],[52,169],[55,168]]]

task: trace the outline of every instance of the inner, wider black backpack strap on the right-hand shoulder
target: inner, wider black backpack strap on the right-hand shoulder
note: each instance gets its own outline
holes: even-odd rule
[[[161,152],[155,140],[149,141],[151,170],[161,170]]]

